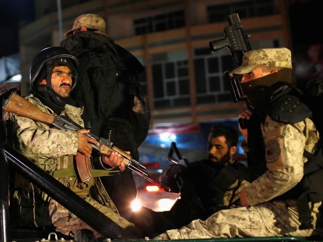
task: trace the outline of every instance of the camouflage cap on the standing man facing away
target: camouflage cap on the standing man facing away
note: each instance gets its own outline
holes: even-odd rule
[[[82,26],[85,26],[88,29],[95,29],[105,34],[105,21],[103,18],[96,14],[82,14],[78,16],[73,23],[72,29],[64,33],[64,36],[72,33],[74,30],[80,29]]]

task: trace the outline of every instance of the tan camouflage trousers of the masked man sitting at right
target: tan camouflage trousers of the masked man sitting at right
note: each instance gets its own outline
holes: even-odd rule
[[[316,214],[313,224],[315,226]],[[206,220],[193,220],[180,229],[167,230],[154,239],[197,239],[217,237],[300,236],[319,234],[318,229],[299,230],[296,206],[266,202],[250,207],[221,210]]]

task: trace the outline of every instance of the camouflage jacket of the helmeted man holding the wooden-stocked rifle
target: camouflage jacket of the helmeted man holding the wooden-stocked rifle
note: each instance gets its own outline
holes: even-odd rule
[[[43,112],[54,114],[50,108],[42,104],[33,95],[26,97],[26,99]],[[82,111],[83,108],[66,104],[65,110],[60,115],[66,115],[84,127],[81,118]],[[8,113],[4,115],[9,116]],[[118,213],[99,177],[91,178],[85,183],[78,181],[73,165],[73,156],[76,155],[78,147],[78,135],[75,131],[50,128],[45,124],[12,113],[10,113],[10,119],[14,122],[15,149],[37,166],[57,177],[65,186],[82,198],[91,197],[103,206],[109,207]],[[88,162],[92,167],[90,159],[88,159]],[[57,171],[66,176],[60,177],[57,175]],[[19,174],[15,175],[14,188],[11,199],[11,210],[15,210],[11,212],[14,217],[12,219],[13,223],[18,226],[36,225],[39,227],[50,225],[51,221],[48,212],[50,198]],[[34,210],[36,212],[31,212]]]

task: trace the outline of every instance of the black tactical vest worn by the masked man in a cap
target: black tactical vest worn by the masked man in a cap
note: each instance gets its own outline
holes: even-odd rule
[[[284,124],[296,124],[305,118],[312,117],[312,111],[301,100],[302,94],[290,85],[289,92],[277,96],[264,112],[255,110],[248,121],[248,169],[251,180],[262,175],[266,170],[265,146],[263,143],[261,124],[266,115],[274,121]],[[315,123],[315,122],[314,122]],[[323,157],[322,151],[311,154],[304,150],[303,156],[308,159],[304,164],[302,180],[290,191],[273,200],[296,199],[301,225],[299,229],[312,228],[313,218],[308,203],[317,203],[323,199]]]

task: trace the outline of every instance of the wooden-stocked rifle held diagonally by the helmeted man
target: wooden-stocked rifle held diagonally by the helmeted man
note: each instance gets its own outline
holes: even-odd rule
[[[3,107],[3,110],[16,113],[19,116],[27,117],[36,122],[40,122],[48,126],[53,126],[64,131],[77,131],[80,129],[84,129],[83,127],[76,124],[75,122],[73,122],[65,116],[55,116],[41,111],[37,106],[33,105],[31,102],[18,95],[17,93],[12,93],[10,95],[7,103]],[[100,155],[109,156],[112,152],[118,152],[122,156],[122,161],[126,164],[126,166],[129,169],[144,177],[151,183],[157,185],[158,187],[164,188],[166,191],[170,190],[170,188],[159,183],[159,181],[151,177],[146,172],[146,167],[141,165],[138,161],[134,160],[131,157],[131,155],[116,147],[110,140],[99,138],[92,133],[87,133],[84,135],[92,139],[95,139],[99,142],[98,146],[94,144],[91,145],[94,149],[98,151]],[[92,177],[89,167],[87,166],[87,162],[85,162],[85,160],[82,163],[77,162],[77,169],[82,181],[86,181],[87,179]]]

